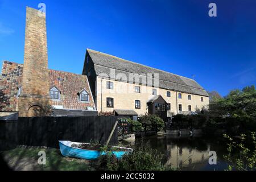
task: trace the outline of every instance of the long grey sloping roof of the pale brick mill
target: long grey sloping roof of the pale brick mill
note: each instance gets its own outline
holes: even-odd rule
[[[147,73],[158,73],[159,88],[208,97],[208,93],[206,92],[206,90],[191,78],[178,76],[173,73],[151,68],[146,65],[134,63],[132,61],[127,61],[119,57],[108,55],[106,53],[93,51],[92,49],[87,49],[87,51],[94,63],[96,75],[106,73],[110,76],[110,69],[112,68],[115,69],[115,75],[117,75],[118,73],[124,73],[127,78],[129,73],[137,73],[139,75],[147,75]],[[154,81],[152,82],[154,85]]]

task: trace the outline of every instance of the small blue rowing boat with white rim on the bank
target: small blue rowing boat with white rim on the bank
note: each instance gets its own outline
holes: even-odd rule
[[[104,151],[87,150],[79,147],[74,147],[74,146],[79,146],[80,144],[89,144],[89,143],[79,143],[79,142],[71,142],[67,140],[59,140],[59,144],[60,144],[60,152],[65,157],[94,160],[94,159],[97,159],[100,155],[106,154],[106,152]],[[123,154],[133,151],[132,148],[117,147],[117,146],[112,146],[112,147],[123,149],[123,151],[112,151],[112,153],[117,158],[121,158]]]

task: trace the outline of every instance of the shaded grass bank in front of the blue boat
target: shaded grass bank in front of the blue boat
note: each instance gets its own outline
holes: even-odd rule
[[[38,164],[39,151],[46,152],[46,164]],[[7,162],[10,166],[23,166],[25,163],[32,168],[33,170],[43,170],[43,171],[52,171],[52,170],[60,170],[60,171],[83,171],[83,170],[94,170],[90,167],[89,160],[82,159],[73,159],[73,158],[65,158],[61,155],[59,149],[56,148],[22,148],[17,147],[13,150],[1,151],[3,156],[6,156]],[[24,169],[24,168],[20,168]]]

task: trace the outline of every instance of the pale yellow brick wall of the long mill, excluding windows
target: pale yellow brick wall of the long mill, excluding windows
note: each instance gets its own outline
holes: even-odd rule
[[[106,82],[112,81],[114,83],[114,89],[106,89]],[[141,93],[136,93],[135,86],[141,87]],[[133,109],[138,114],[147,113],[147,102],[150,100],[152,95],[152,87],[146,85],[130,84],[122,81],[106,80],[101,81],[101,77],[97,77],[97,110],[100,111],[113,111],[114,109]],[[102,90],[102,92],[101,92]],[[192,111],[197,108],[207,107],[209,104],[209,97],[198,96],[195,94],[191,95],[191,100],[188,100],[188,93],[176,92],[173,90],[166,90],[156,88],[157,94],[161,95],[167,103],[171,103],[171,112],[177,114],[177,105],[182,105],[182,110],[187,111],[188,105],[191,105]],[[167,97],[167,91],[171,92],[171,97]],[[182,98],[177,98],[178,93],[181,93]],[[106,97],[114,98],[114,108],[106,107]],[[201,102],[201,97],[204,101]],[[135,109],[135,100],[141,101],[141,109]],[[101,104],[102,101],[102,104]],[[177,103],[177,104],[176,104]]]

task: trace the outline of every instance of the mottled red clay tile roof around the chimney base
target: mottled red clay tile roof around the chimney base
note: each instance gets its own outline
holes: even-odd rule
[[[9,105],[1,111],[18,111],[18,88],[22,86],[23,64],[3,61],[2,73],[0,75],[0,92],[9,100]],[[52,100],[52,105],[62,105],[63,109],[95,109],[92,93],[88,79],[85,75],[55,71],[49,69],[50,87],[56,86],[60,90],[60,101]],[[50,89],[50,88],[49,88]],[[79,93],[85,89],[89,93],[89,102],[81,102]],[[1,95],[1,94],[0,94]]]

